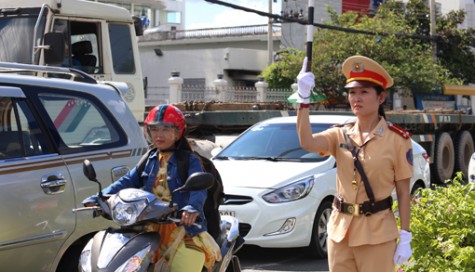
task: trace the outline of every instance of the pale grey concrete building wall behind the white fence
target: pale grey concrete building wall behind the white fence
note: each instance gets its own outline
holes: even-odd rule
[[[274,37],[273,51],[279,48],[280,35]],[[157,49],[161,56],[155,53]],[[139,51],[142,72],[151,88],[168,86],[173,71],[180,72],[185,81],[204,79],[206,86],[212,86],[218,74],[223,74],[230,86],[242,85],[242,81],[249,85],[267,67],[268,56],[267,35],[143,40]]]

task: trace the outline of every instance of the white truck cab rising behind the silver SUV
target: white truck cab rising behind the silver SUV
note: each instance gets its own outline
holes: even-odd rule
[[[123,99],[143,121],[140,18],[117,5],[83,0],[0,0],[0,15],[0,62],[70,67],[103,84],[124,84]]]

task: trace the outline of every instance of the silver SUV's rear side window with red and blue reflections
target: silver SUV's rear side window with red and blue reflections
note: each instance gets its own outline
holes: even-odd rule
[[[123,144],[125,137],[94,101],[76,95],[40,93],[38,95],[68,152],[81,148],[103,148]],[[123,133],[122,133],[123,134]],[[75,151],[77,150],[77,151]]]

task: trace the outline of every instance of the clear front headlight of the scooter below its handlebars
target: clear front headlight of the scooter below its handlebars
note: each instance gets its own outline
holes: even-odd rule
[[[114,197],[111,203],[112,220],[121,226],[130,226],[137,222],[137,218],[147,207],[145,199],[133,202],[124,202],[119,197]]]

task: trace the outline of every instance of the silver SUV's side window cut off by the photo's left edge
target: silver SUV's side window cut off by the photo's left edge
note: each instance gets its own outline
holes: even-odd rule
[[[24,100],[1,97],[0,116],[0,160],[51,153]]]

